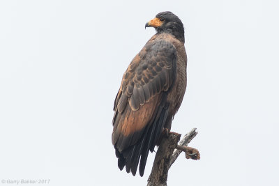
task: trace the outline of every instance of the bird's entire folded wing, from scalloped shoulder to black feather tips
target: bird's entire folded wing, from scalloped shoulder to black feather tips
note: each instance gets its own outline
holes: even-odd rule
[[[114,101],[112,144],[119,169],[144,173],[149,150],[167,118],[167,93],[175,80],[176,48],[166,40],[146,43],[123,75]]]

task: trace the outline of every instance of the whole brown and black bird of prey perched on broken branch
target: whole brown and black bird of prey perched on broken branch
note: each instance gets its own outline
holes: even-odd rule
[[[144,175],[149,150],[169,131],[186,91],[187,56],[183,23],[171,12],[158,13],[145,27],[156,34],[123,75],[114,101],[112,144],[119,169]]]

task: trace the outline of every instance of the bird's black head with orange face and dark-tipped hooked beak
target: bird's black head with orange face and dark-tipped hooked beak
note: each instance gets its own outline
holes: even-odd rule
[[[153,20],[145,24],[145,27],[154,27],[157,33],[171,33],[177,39],[185,42],[183,23],[171,12],[158,13]]]

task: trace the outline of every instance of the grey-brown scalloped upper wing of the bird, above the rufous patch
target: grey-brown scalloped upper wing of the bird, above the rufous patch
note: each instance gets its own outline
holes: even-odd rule
[[[121,97],[126,98],[135,111],[153,96],[168,91],[174,79],[175,68],[176,48],[172,42],[164,38],[149,40],[124,73],[114,110],[117,106],[120,111],[124,109],[119,102]]]

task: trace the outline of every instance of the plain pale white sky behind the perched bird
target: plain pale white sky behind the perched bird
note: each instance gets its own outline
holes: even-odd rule
[[[197,127],[168,185],[279,185],[278,1],[1,1],[0,180],[146,185],[111,143],[123,72],[161,11],[186,30],[188,87],[172,130]],[[8,185],[8,183],[0,185]],[[12,184],[9,184],[12,185]],[[26,184],[38,185],[38,184]]]

